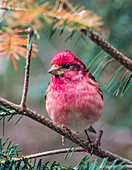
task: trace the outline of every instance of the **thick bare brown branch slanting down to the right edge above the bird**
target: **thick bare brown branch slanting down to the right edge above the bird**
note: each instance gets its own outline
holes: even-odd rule
[[[62,0],[58,0],[62,1]],[[68,0],[63,0],[64,5],[63,8],[67,11],[73,10],[72,5],[68,2]],[[122,64],[124,67],[132,71],[132,61],[127,58],[124,54],[119,52],[116,48],[110,45],[107,41],[105,41],[101,36],[97,33],[93,32],[90,29],[82,29],[81,30],[85,35],[87,35],[95,44],[97,44],[103,51],[108,53],[112,58]]]

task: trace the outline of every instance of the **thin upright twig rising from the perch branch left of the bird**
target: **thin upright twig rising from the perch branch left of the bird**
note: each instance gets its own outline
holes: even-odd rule
[[[31,63],[31,54],[32,54],[32,37],[34,31],[32,28],[29,30],[29,40],[27,46],[27,56],[26,56],[26,67],[25,67],[25,78],[24,78],[24,87],[23,87],[23,94],[21,99],[21,106],[23,108],[26,107],[26,99],[27,99],[27,92],[28,92],[28,85],[29,85],[29,73],[30,73],[30,63]]]

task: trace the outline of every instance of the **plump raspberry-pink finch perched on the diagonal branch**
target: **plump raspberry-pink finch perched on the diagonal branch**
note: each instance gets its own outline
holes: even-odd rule
[[[45,101],[52,121],[75,133],[92,129],[103,113],[103,93],[85,64],[70,51],[59,51],[48,72]]]

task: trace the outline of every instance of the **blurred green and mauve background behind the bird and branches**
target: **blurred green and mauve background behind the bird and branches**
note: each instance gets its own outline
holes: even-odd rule
[[[51,1],[54,3],[55,1]],[[85,6],[97,15],[102,17],[104,25],[100,35],[123,52],[127,57],[132,56],[132,1],[131,0],[77,0],[70,1],[79,6]],[[45,110],[44,95],[51,75],[48,74],[52,57],[61,50],[70,50],[76,57],[83,61],[86,66],[101,51],[89,39],[84,41],[79,33],[75,33],[72,39],[65,42],[69,36],[64,32],[60,36],[60,31],[56,31],[50,39],[50,26],[45,26],[39,32],[40,39],[36,42],[39,52],[36,58],[32,58],[30,85],[28,91],[28,107],[38,113],[48,117]],[[12,61],[7,61],[6,57],[0,57],[0,96],[19,104],[21,101],[25,58],[20,58],[17,62],[18,71],[15,71]],[[119,64],[111,64],[103,77],[99,80],[103,88],[112,74],[117,70]],[[96,77],[96,75],[95,75]],[[115,97],[112,92],[104,89],[104,111],[100,121],[95,124],[95,128],[104,130],[102,138],[102,148],[114,152],[120,156],[132,159],[132,90],[126,93],[123,98]],[[3,141],[9,137],[14,143],[19,144],[23,155],[55,150],[59,148],[71,147],[72,142],[66,140],[65,146],[61,143],[61,136],[43,125],[23,117],[15,125],[20,116],[14,116],[5,124],[5,135],[3,136],[2,121],[0,121],[0,137]],[[49,118],[49,117],[48,117]],[[7,120],[7,118],[6,118]],[[82,137],[85,135],[82,133]],[[43,160],[46,162],[54,160],[64,165],[76,165],[84,156],[82,153],[74,153],[72,158],[64,161],[65,154],[47,156]]]

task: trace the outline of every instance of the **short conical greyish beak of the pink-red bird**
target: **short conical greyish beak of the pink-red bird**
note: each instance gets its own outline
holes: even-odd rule
[[[48,70],[48,73],[54,76],[61,76],[64,73],[64,70],[60,66],[52,65],[51,68]]]

